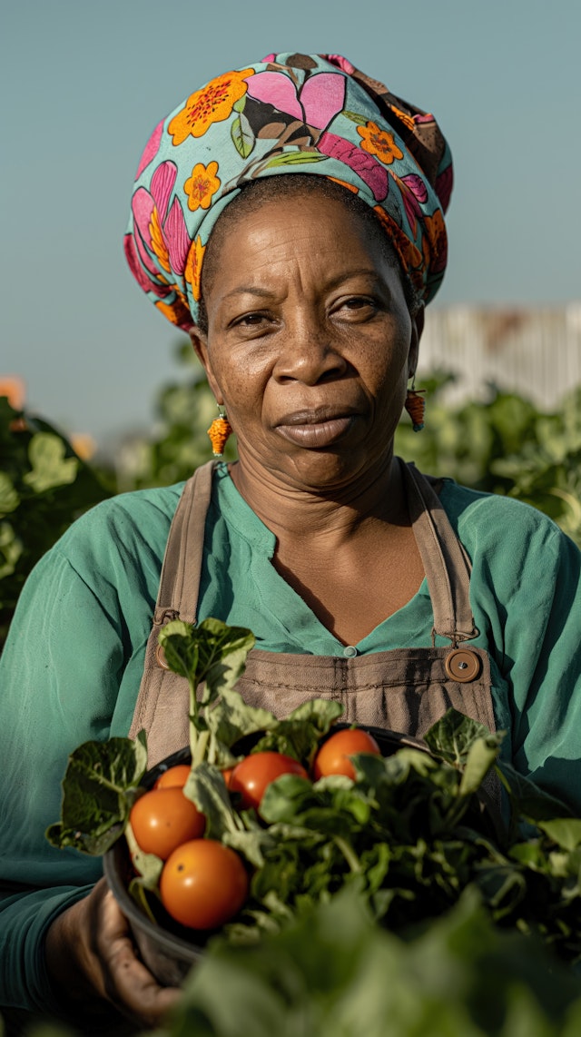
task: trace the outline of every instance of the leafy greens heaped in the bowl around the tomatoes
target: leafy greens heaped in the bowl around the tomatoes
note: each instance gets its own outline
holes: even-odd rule
[[[313,783],[307,772],[337,703],[313,700],[283,720],[246,704],[234,686],[253,643],[244,628],[175,620],[160,643],[192,700],[204,681],[191,704],[184,794],[204,815],[206,837],[238,850],[252,870],[250,897],[226,926],[229,938],[252,944],[350,885],[374,918],[405,932],[474,886],[499,925],[541,934],[562,957],[581,959],[581,819],[500,759],[502,732],[449,709],[424,736],[428,752],[357,753],[355,780],[330,775]],[[241,739],[265,731],[274,745],[283,736],[305,770],[269,784],[256,814],[228,795],[222,768],[253,753],[257,759],[265,739],[242,755]],[[145,767],[140,742],[85,742],[72,755],[61,822],[47,832],[53,845],[102,853],[119,837],[123,802],[133,803]],[[507,828],[483,790],[490,773],[506,791]],[[536,834],[523,836],[523,824]],[[149,872],[157,880],[162,862],[148,854],[143,864],[143,884],[153,888]]]

